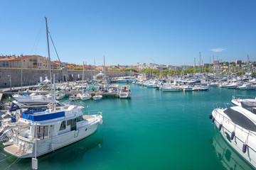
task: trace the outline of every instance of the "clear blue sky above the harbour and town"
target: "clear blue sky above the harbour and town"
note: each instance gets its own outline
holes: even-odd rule
[[[256,61],[255,0],[0,2],[0,55],[47,56],[46,25],[62,62],[183,65]],[[50,45],[52,60],[57,55]]]

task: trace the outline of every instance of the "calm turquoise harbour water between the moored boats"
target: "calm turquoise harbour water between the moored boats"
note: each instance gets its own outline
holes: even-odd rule
[[[78,102],[87,110],[103,111],[105,123],[90,137],[39,157],[38,169],[251,169],[223,141],[208,115],[214,103],[230,103],[235,94],[256,96],[256,91],[131,89],[131,99]],[[9,157],[0,149],[0,160]],[[0,169],[15,160],[0,162]],[[10,169],[31,169],[31,159]]]

